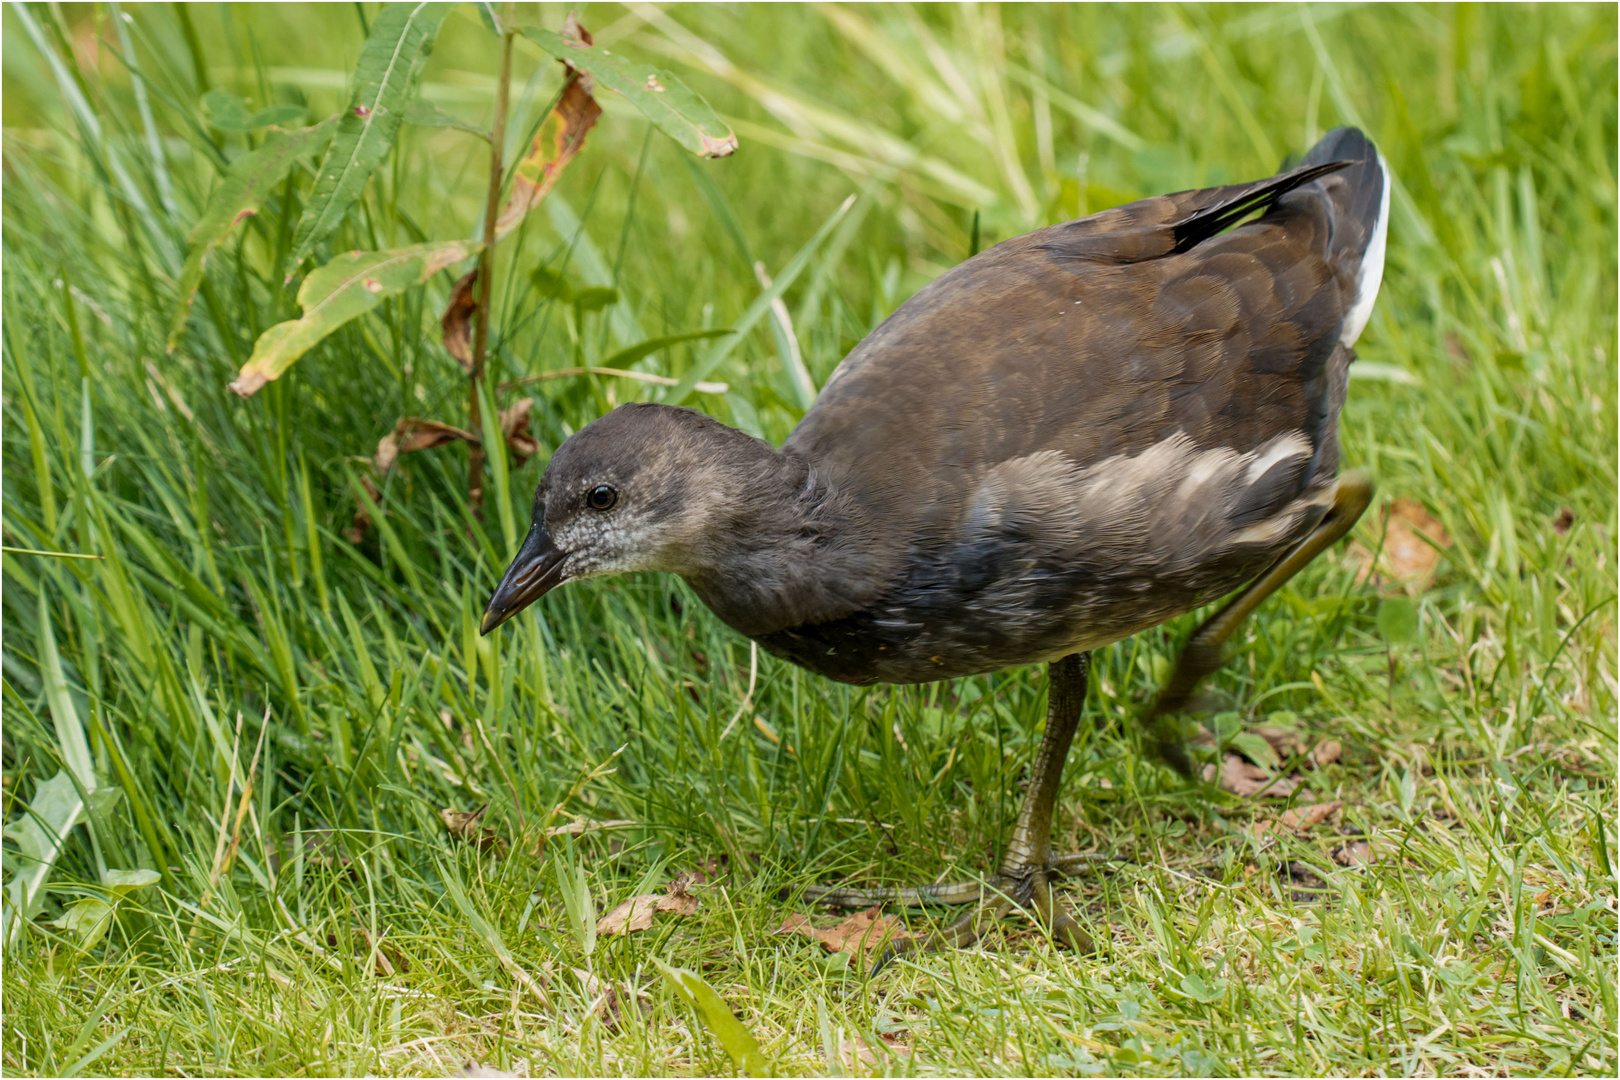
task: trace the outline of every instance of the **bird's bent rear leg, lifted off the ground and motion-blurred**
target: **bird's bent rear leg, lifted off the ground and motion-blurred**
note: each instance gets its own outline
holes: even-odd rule
[[[1153,711],[1147,716],[1147,727],[1158,742],[1158,755],[1183,776],[1192,774],[1192,761],[1187,758],[1181,737],[1171,732],[1163,719],[1179,712],[1199,680],[1220,667],[1221,646],[1243,625],[1243,620],[1265,599],[1280,589],[1288,578],[1299,573],[1306,563],[1327,551],[1333,541],[1345,536],[1361,518],[1362,510],[1372,502],[1372,479],[1361,471],[1346,473],[1338,478],[1333,491],[1333,505],[1328,507],[1317,526],[1311,529],[1299,544],[1272,567],[1256,578],[1249,588],[1239,593],[1230,604],[1210,615],[1202,627],[1192,631],[1187,646],[1176,661],[1176,669],[1165,683]]]

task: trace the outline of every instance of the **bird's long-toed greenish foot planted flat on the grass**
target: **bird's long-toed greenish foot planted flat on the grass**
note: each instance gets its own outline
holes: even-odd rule
[[[1076,952],[1095,952],[1092,936],[1081,928],[1068,905],[1053,892],[1053,882],[1076,874],[1087,866],[1105,861],[1106,857],[1097,853],[1058,855],[1043,865],[1003,865],[1001,873],[987,881],[957,881],[949,884],[919,886],[914,889],[829,889],[812,887],[805,897],[833,907],[873,907],[878,904],[902,904],[922,907],[930,904],[972,904],[974,910],[961,915],[936,934],[907,938],[891,944],[872,973],[888,965],[891,960],[909,952],[932,952],[935,949],[962,949],[988,929],[988,926],[1013,910],[1034,915],[1042,926],[1051,931],[1053,941],[1068,946]]]

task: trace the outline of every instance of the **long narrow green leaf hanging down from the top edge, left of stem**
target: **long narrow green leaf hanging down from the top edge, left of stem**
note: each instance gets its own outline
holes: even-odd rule
[[[355,97],[321,160],[314,193],[293,235],[293,264],[343,220],[399,136],[449,3],[390,3],[371,24],[355,65]]]

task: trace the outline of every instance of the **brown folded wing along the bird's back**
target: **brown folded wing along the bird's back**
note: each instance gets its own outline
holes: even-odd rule
[[[886,534],[941,542],[977,476],[1032,453],[1084,468],[1178,432],[1247,452],[1290,431],[1320,450],[1356,267],[1335,266],[1333,201],[1312,181],[1341,167],[1142,199],[990,248],[867,337],[787,447]]]

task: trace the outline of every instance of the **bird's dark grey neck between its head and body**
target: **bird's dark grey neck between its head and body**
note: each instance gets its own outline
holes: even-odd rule
[[[857,542],[860,521],[807,458],[794,450],[729,470],[729,491],[682,572],[716,615],[760,636],[826,622],[870,601],[876,576]]]

